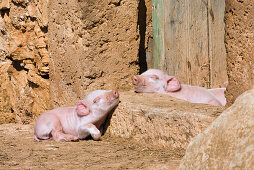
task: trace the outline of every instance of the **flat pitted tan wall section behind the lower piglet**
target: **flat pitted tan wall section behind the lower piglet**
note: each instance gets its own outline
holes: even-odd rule
[[[145,50],[145,37],[148,36],[144,32],[145,5],[151,7],[151,1],[140,2],[49,2],[50,96],[53,107],[75,104],[77,99],[93,89],[131,88],[130,78],[138,73],[139,52]],[[140,20],[142,17],[144,20]]]

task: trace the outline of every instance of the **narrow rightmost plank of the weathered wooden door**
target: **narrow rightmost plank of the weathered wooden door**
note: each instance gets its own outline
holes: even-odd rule
[[[225,1],[209,0],[209,58],[211,88],[218,87],[227,81],[226,49],[224,44],[224,11]]]

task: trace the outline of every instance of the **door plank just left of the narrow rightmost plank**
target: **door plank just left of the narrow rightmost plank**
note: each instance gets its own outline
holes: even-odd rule
[[[210,87],[210,58],[208,55],[208,0],[186,1],[190,3],[188,84]]]

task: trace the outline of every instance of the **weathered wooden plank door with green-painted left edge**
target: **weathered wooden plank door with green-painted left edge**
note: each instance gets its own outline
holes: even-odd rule
[[[153,0],[154,67],[207,88],[227,81],[222,0]]]

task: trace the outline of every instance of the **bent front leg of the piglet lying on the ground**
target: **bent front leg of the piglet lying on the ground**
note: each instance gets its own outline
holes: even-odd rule
[[[84,139],[91,135],[94,140],[99,140],[101,137],[101,132],[94,124],[88,123],[79,127],[78,135],[80,139]]]

